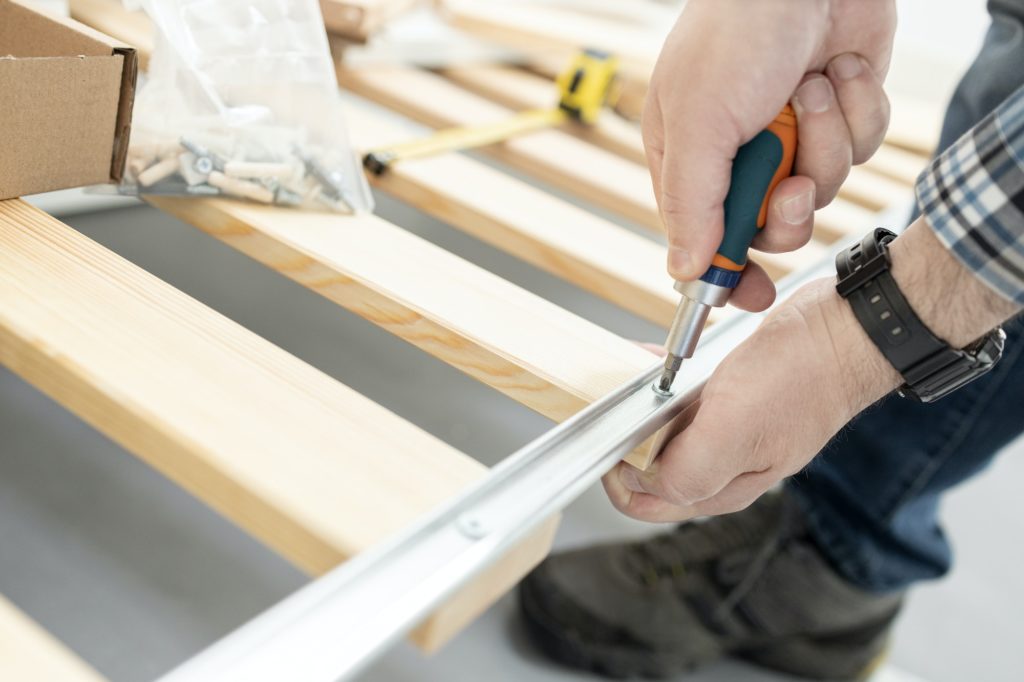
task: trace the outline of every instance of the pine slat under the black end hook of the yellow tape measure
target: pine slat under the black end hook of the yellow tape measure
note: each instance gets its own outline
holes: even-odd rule
[[[352,108],[345,120],[366,147],[409,137]],[[469,157],[447,154],[395,164],[373,183],[477,239],[563,278],[655,324],[679,300],[666,249]]]

